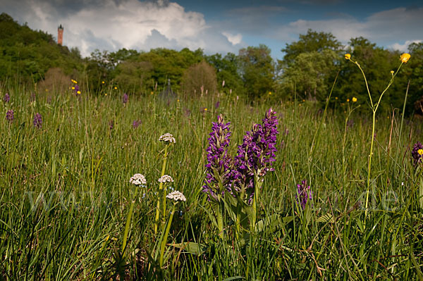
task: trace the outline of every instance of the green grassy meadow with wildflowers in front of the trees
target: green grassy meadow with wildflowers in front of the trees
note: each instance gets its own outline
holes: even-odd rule
[[[368,175],[372,115],[353,111],[353,96],[324,111],[219,92],[124,103],[119,89],[1,89],[0,280],[423,280],[421,120],[376,115]],[[248,227],[238,218],[251,225],[254,202],[202,192],[209,133],[218,115],[231,122],[234,156],[269,108],[274,170]],[[147,183],[133,185],[137,173]],[[164,174],[173,182],[161,185]],[[164,199],[173,190],[186,201]]]

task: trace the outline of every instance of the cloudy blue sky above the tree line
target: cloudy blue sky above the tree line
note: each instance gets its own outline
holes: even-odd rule
[[[1,0],[0,12],[56,35],[82,55],[123,47],[201,48],[206,54],[266,44],[283,58],[286,44],[310,28],[331,32],[343,44],[365,37],[386,49],[405,51],[423,40],[421,1],[193,1],[193,0]]]

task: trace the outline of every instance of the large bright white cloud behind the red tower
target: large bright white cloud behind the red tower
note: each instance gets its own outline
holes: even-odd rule
[[[183,6],[166,0],[82,0],[80,8],[69,12],[63,1],[25,0],[13,4],[6,0],[13,18],[27,22],[32,28],[57,35],[57,26],[64,27],[63,44],[77,46],[83,56],[94,49],[170,49],[202,48],[235,51],[233,42],[207,25],[202,13],[185,11]],[[101,2],[101,3],[100,3]],[[25,6],[25,9],[21,9]],[[209,38],[213,38],[209,40]],[[235,42],[238,37],[233,37]]]

